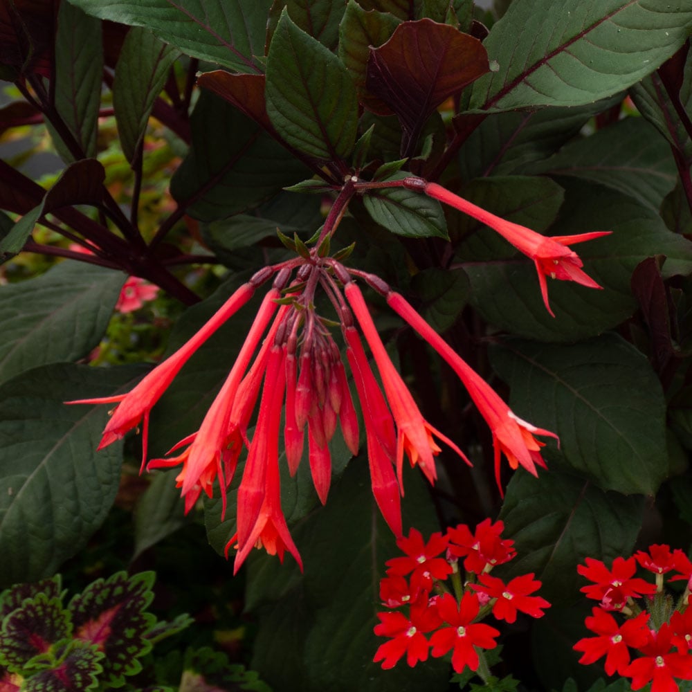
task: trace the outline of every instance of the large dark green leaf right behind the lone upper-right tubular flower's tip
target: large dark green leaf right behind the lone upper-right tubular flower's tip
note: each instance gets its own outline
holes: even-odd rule
[[[584,271],[603,291],[550,281],[550,305],[556,314],[552,318],[540,297],[536,268],[530,260],[504,257],[474,262],[464,257],[461,264],[471,280],[471,303],[487,322],[544,341],[595,336],[630,317],[637,309],[630,289],[632,272],[646,257],[666,255],[664,277],[692,271],[692,244],[671,233],[650,208],[597,185],[576,179],[562,182],[567,194],[552,235],[612,231],[608,237],[574,246],[584,260]],[[490,241],[488,246],[495,247]]]

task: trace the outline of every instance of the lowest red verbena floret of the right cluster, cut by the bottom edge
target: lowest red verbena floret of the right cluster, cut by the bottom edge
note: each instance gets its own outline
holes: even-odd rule
[[[632,689],[639,690],[649,682],[651,692],[678,692],[677,680],[692,680],[692,655],[673,653],[673,630],[668,623],[650,630],[648,642],[639,647],[641,657],[632,661],[622,674],[632,678]]]

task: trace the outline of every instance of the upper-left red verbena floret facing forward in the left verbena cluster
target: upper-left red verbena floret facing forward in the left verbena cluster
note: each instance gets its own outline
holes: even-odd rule
[[[411,529],[408,537],[397,540],[397,547],[406,557],[387,561],[389,576],[410,574],[412,586],[430,591],[433,579],[446,579],[452,573],[452,566],[439,557],[447,549],[447,538],[439,532],[432,534],[426,543],[418,529]]]

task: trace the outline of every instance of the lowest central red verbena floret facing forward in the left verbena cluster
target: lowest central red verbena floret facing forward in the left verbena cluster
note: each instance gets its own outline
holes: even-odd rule
[[[477,594],[470,591],[464,594],[458,607],[451,594],[437,599],[436,605],[440,617],[450,627],[440,628],[430,637],[432,655],[439,657],[452,651],[452,666],[457,673],[461,673],[466,666],[476,671],[478,654],[474,647],[491,649],[498,646],[495,637],[500,635],[499,630],[483,623],[473,623],[480,605]]]

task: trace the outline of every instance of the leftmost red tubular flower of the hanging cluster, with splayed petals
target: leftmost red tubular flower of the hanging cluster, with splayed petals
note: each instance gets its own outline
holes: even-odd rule
[[[132,430],[143,421],[142,432],[142,469],[147,459],[147,441],[149,435],[149,412],[154,404],[161,399],[165,390],[173,381],[181,367],[190,359],[190,356],[210,337],[221,325],[230,318],[235,312],[243,307],[255,293],[255,284],[248,282],[240,286],[233,295],[216,311],[216,313],[197,331],[183,346],[174,354],[157,365],[152,372],[136,387],[127,394],[119,394],[117,397],[103,397],[101,399],[79,399],[78,401],[67,401],[66,403],[118,403],[113,411],[111,419],[108,421],[103,431],[103,437],[98,449],[103,449],[112,444],[116,439],[120,439],[126,432]],[[280,297],[279,291],[271,289],[265,297],[265,302],[273,302]]]

